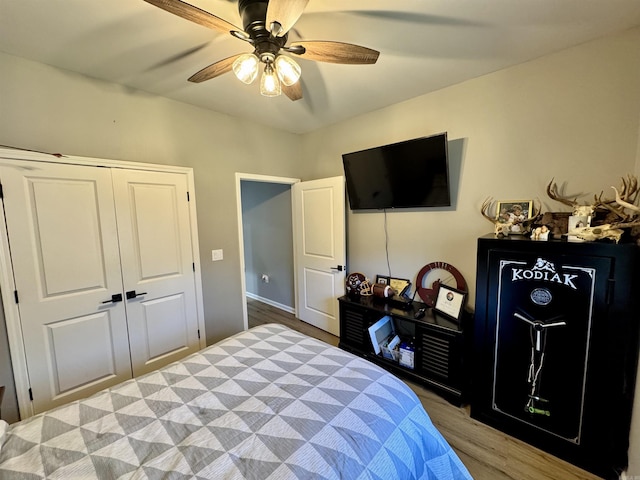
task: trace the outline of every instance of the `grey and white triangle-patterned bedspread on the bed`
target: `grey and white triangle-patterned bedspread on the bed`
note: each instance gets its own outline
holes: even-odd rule
[[[403,382],[269,324],[84,400],[2,422],[0,478],[471,476]]]

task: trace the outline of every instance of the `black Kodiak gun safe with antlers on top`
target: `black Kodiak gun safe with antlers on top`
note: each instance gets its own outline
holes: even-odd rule
[[[638,362],[639,252],[480,238],[471,416],[618,479]]]

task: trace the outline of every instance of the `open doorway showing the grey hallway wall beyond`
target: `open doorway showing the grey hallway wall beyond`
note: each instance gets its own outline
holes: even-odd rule
[[[245,329],[248,298],[296,312],[291,185],[299,181],[236,173]]]

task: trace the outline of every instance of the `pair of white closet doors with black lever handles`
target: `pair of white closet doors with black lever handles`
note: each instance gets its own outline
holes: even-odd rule
[[[0,166],[35,413],[199,348],[185,175]]]

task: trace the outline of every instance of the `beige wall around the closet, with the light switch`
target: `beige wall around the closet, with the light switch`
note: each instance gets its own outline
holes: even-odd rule
[[[297,177],[298,136],[1,53],[0,92],[0,145],[193,167],[207,342],[242,330],[235,172]]]

